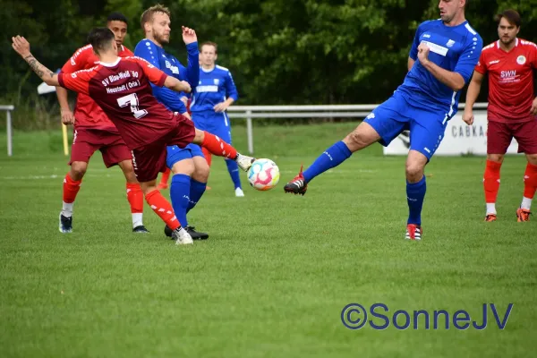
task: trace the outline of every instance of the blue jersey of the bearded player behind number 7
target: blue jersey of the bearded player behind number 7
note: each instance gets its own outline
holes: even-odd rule
[[[134,48],[134,55],[149,61],[155,67],[165,72],[168,76],[173,76],[181,81],[188,81],[192,89],[200,81],[200,51],[198,50],[198,42],[192,42],[186,46],[188,52],[188,67],[184,67],[174,55],[166,53],[164,48],[158,47],[153,41],[144,38]],[[186,107],[180,98],[187,96],[184,93],[177,93],[174,90],[166,87],[158,87],[151,83],[153,95],[158,101],[164,104],[169,110],[186,112]]]

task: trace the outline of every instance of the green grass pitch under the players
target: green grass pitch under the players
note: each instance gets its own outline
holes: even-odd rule
[[[210,234],[177,247],[145,207],[131,233],[118,168],[91,159],[60,234],[61,132],[0,135],[2,357],[533,357],[537,350],[537,222],[516,222],[525,159],[502,166],[499,220],[484,223],[484,158],[434,158],[427,167],[422,242],[404,240],[405,158],[375,145],[321,175],[304,197],[283,185],[300,164],[355,124],[254,127],[255,155],[273,158],[275,190],[235,198],[223,160],[189,216]],[[245,152],[243,127],[234,144]],[[165,192],[168,196],[168,192]],[[458,310],[488,326],[345,328],[348,303]],[[391,317],[391,316],[390,316]],[[371,318],[371,317],[370,317]],[[399,318],[399,322],[403,318]],[[382,320],[375,319],[376,324]],[[432,321],[431,321],[432,322]],[[532,354],[533,352],[533,354]]]

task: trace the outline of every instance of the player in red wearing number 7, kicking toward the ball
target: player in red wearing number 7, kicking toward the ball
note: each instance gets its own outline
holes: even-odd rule
[[[114,33],[107,28],[91,30],[88,39],[99,62],[95,67],[73,73],[55,74],[39,64],[30,53],[28,41],[20,36],[13,38],[13,49],[48,85],[85,93],[96,101],[132,150],[134,173],[149,207],[173,230],[176,244],[192,243],[191,235],[157,189],[158,173],[166,168],[166,147],[184,148],[191,142],[200,144],[212,154],[234,159],[244,171],[250,168],[254,158],[243,156],[217,136],[194,128],[193,122],[185,116],[168,111],[153,97],[149,84],[150,81],[160,87],[190,93],[188,82],[167,76],[140,57],[119,57]]]

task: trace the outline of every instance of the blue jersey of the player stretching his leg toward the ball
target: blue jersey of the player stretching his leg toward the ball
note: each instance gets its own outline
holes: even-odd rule
[[[461,92],[450,89],[422,66],[418,60],[422,42],[430,48],[432,63],[459,73],[468,83],[482,52],[482,38],[468,21],[457,26],[446,26],[441,20],[424,21],[416,30],[410,50],[415,63],[397,90],[414,106],[443,111],[450,119],[456,113]]]

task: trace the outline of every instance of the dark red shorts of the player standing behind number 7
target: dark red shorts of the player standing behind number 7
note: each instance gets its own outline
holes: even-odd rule
[[[74,131],[72,139],[69,165],[71,166],[72,162],[89,163],[91,156],[98,149],[107,167],[132,159],[131,150],[127,148],[119,133],[102,129],[78,128]]]

